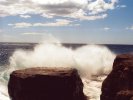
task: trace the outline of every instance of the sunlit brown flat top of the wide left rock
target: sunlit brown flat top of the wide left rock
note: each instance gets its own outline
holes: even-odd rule
[[[29,69],[23,69],[23,70],[17,70],[12,73],[12,75],[20,78],[27,78],[30,76],[35,76],[35,75],[44,75],[44,76],[71,76],[74,72],[76,72],[76,69],[72,68],[41,68],[41,67],[36,67],[36,68],[29,68]]]

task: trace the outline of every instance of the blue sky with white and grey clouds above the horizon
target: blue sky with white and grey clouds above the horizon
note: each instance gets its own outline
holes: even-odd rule
[[[0,42],[133,44],[133,0],[0,0]]]

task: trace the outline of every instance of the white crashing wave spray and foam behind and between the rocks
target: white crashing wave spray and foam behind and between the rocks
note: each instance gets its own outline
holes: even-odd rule
[[[7,92],[10,73],[31,67],[77,68],[89,100],[100,100],[101,84],[111,71],[114,58],[114,53],[99,45],[85,45],[73,50],[59,42],[44,42],[32,51],[16,50],[10,57],[10,65],[0,71],[0,100],[10,100]]]

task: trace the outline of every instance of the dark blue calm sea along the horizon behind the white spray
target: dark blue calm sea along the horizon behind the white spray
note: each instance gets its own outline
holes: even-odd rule
[[[37,43],[0,43],[0,65],[8,64],[9,57],[16,49],[32,50]],[[65,47],[76,49],[87,44],[62,44]],[[100,44],[101,45],[101,44]],[[115,54],[133,53],[133,45],[102,44]]]

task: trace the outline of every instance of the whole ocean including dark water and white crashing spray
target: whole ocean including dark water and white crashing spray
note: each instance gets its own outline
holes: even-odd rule
[[[29,67],[76,67],[89,100],[100,100],[101,84],[118,54],[133,45],[0,43],[0,100],[10,100],[7,84],[13,70]]]

